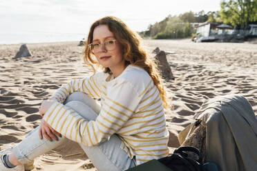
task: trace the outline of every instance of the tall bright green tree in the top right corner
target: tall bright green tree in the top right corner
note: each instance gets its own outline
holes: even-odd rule
[[[257,20],[257,0],[228,0],[220,3],[220,17],[224,23],[245,29]]]

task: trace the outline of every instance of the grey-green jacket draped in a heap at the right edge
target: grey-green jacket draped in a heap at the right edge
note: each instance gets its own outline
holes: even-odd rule
[[[257,170],[257,119],[245,97],[209,99],[194,118],[206,124],[206,161],[217,163],[220,170]],[[181,132],[180,143],[190,127]]]

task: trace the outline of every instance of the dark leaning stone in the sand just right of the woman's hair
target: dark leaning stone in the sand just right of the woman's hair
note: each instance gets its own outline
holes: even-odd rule
[[[173,74],[171,72],[171,67],[169,66],[169,63],[166,59],[166,54],[163,50],[161,50],[156,56],[155,59],[158,59],[158,68],[162,72],[162,77],[166,80],[169,81],[170,79],[175,79],[173,77]]]

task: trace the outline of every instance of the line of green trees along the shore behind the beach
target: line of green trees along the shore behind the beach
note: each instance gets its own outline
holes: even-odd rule
[[[223,0],[220,11],[204,10],[184,12],[178,16],[169,15],[164,20],[151,24],[148,30],[140,32],[142,37],[153,39],[181,39],[191,37],[192,23],[227,23],[238,29],[247,29],[249,23],[257,21],[257,0]]]

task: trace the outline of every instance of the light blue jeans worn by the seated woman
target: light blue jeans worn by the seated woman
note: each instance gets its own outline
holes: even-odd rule
[[[74,92],[66,99],[66,106],[77,111],[86,120],[95,120],[99,114],[99,105],[88,95],[82,92]],[[26,139],[16,145],[12,152],[20,163],[29,163],[35,157],[44,154],[67,141],[66,137],[58,137],[58,141],[48,141],[39,138],[39,127],[30,132]],[[117,134],[113,134],[108,141],[99,145],[88,147],[79,144],[89,159],[93,162],[97,170],[127,170],[135,167],[135,158],[130,159],[128,154],[120,148],[122,140]]]

